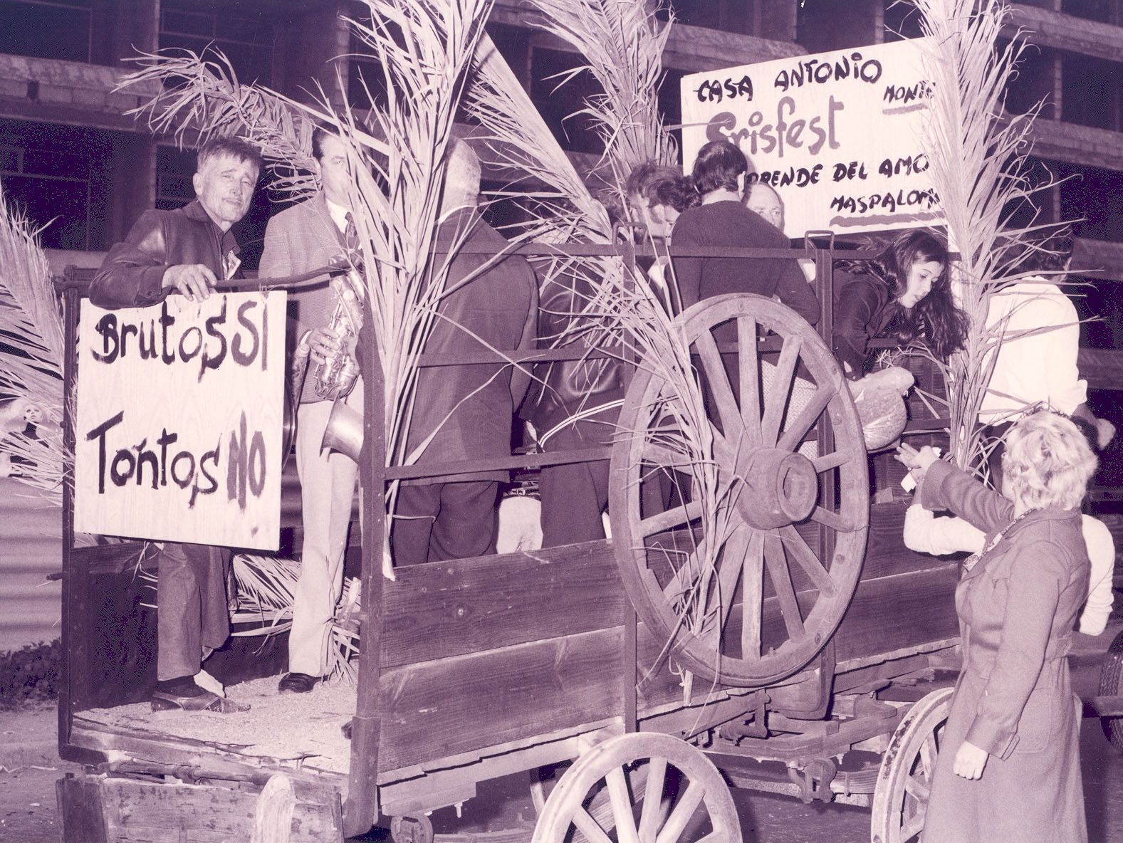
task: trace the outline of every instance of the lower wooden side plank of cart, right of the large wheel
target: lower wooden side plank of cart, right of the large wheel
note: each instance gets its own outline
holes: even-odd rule
[[[958,583],[959,566],[953,562],[861,581],[834,635],[837,660],[955,638]]]

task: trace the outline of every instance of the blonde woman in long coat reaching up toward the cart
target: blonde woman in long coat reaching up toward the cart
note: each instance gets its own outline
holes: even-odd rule
[[[1023,416],[1006,440],[1003,494],[931,448],[901,446],[926,508],[986,533],[956,590],[964,667],[940,744],[928,843],[1087,841],[1068,662],[1088,589],[1080,502],[1096,457],[1067,418]]]

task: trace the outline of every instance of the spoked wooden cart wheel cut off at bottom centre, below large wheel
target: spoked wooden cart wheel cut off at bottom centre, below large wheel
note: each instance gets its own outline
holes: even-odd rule
[[[647,771],[642,784],[634,778],[638,769]],[[588,810],[601,792],[611,805],[603,824]],[[531,843],[741,840],[729,786],[701,750],[670,735],[631,733],[574,761],[546,799]]]

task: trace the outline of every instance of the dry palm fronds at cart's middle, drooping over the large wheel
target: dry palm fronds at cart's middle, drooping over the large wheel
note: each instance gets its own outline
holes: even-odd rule
[[[624,181],[637,164],[657,161],[674,164],[676,149],[659,118],[656,91],[661,76],[661,54],[668,28],[652,10],[626,0],[531,0],[544,13],[541,28],[576,48],[587,64],[573,73],[590,73],[602,94],[582,111],[592,118],[603,143],[599,169],[611,174],[610,190],[624,204]],[[528,174],[533,186],[517,195],[530,198],[533,219],[527,228],[541,242],[612,244],[609,213],[581,181],[533,103],[494,51],[485,45],[477,63],[475,84],[468,91],[468,110],[478,120],[477,138],[487,143],[496,159]],[[719,488],[713,437],[702,400],[697,374],[686,338],[642,273],[618,257],[551,257],[539,265],[540,283],[586,291],[570,299],[567,328],[550,338],[556,345],[583,342],[591,350],[619,355],[648,368],[665,386],[654,431],[617,430],[618,438],[651,437],[674,453],[691,476],[694,500],[702,504],[701,525],[707,538],[695,552],[672,559],[684,584],[678,602],[682,623],[701,630],[713,622],[706,614],[718,555],[728,539],[729,488]],[[584,282],[575,284],[575,277]],[[544,296],[545,297],[545,296]],[[578,407],[576,413],[585,412]],[[670,642],[667,642],[669,645]],[[688,685],[687,694],[690,694]]]

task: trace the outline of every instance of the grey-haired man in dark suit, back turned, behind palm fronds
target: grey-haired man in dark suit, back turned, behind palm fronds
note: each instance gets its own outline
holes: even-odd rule
[[[450,265],[426,354],[456,359],[535,345],[538,285],[530,265],[521,257],[463,254],[508,246],[476,210],[478,194],[480,161],[466,143],[454,141],[433,256],[440,266],[448,253]],[[511,420],[528,384],[522,370],[505,364],[421,369],[407,452],[433,434],[420,464],[510,456]],[[495,497],[509,476],[493,470],[403,482],[391,531],[394,563],[494,552]]]

